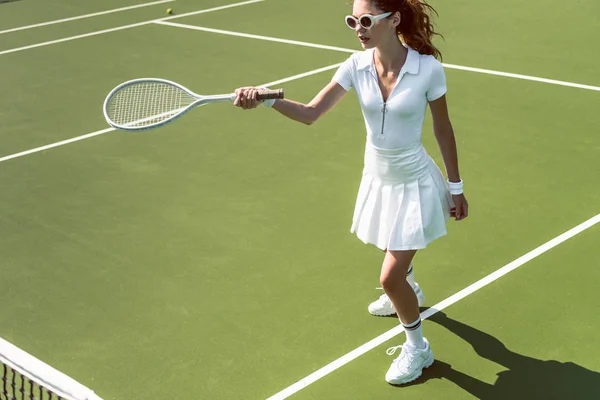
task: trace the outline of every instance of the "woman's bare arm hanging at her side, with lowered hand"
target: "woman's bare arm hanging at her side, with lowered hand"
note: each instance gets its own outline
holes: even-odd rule
[[[456,139],[454,130],[450,123],[448,115],[448,104],[446,96],[429,102],[431,116],[433,117],[433,132],[437,139],[444,165],[446,166],[446,174],[450,182],[460,182],[460,172],[458,170],[458,151],[456,150]],[[452,195],[454,205],[456,206],[456,220],[467,218],[469,214],[469,206],[464,194]]]

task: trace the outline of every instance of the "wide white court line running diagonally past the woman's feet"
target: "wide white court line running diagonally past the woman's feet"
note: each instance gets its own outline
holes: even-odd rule
[[[555,237],[554,239],[550,240],[549,242],[544,243],[543,245],[539,246],[538,248],[517,258],[513,262],[506,264],[504,267],[492,272],[485,278],[478,280],[477,282],[464,288],[460,292],[448,297],[447,299],[439,302],[435,306],[425,310],[421,314],[421,318],[427,319],[427,318],[431,317],[438,311],[441,311],[444,308],[447,308],[447,307],[451,306],[452,304],[456,303],[457,301],[464,299],[468,295],[489,285],[490,283],[492,283],[495,280],[501,278],[502,276],[508,274],[509,272],[519,268],[521,265],[525,264],[526,262],[531,261],[532,259],[536,258],[537,256],[539,256],[541,254],[544,254],[545,252],[552,249],[553,247],[558,246],[562,242],[572,238],[573,236],[585,231],[588,228],[591,228],[592,226],[594,226],[595,224],[597,224],[599,222],[600,222],[600,214],[577,225],[576,227],[568,230],[567,232],[563,233],[562,235]],[[389,331],[377,336],[375,339],[363,344],[360,347],[357,347],[356,349],[343,355],[342,357],[338,358],[337,360],[327,364],[323,368],[313,372],[312,374],[306,376],[305,378],[300,379],[298,382],[294,383],[293,385],[288,386],[287,388],[283,389],[281,392],[269,397],[267,400],[283,400],[283,399],[288,398],[289,396],[293,395],[294,393],[306,388],[308,385],[316,382],[317,380],[330,374],[331,372],[335,371],[336,369],[344,366],[345,364],[356,359],[357,357],[360,357],[361,355],[365,354],[369,350],[372,350],[375,347],[387,342],[388,340],[390,340],[391,338],[400,334],[403,331],[404,331],[404,328],[402,327],[402,325],[398,325],[395,328],[390,329]]]

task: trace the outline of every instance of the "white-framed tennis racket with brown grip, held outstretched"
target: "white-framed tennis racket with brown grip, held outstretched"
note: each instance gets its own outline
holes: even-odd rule
[[[104,118],[113,128],[144,131],[175,121],[193,108],[232,102],[236,95],[201,96],[178,83],[144,78],[124,82],[104,100]],[[283,99],[283,89],[261,90],[258,100]]]

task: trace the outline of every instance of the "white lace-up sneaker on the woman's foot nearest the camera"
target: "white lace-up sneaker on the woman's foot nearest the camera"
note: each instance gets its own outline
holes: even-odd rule
[[[393,355],[397,349],[401,348],[400,356],[396,358],[388,372],[385,374],[385,380],[392,385],[403,385],[417,379],[423,373],[423,368],[430,367],[433,364],[433,352],[429,347],[429,342],[425,340],[425,348],[418,349],[409,344],[390,347],[387,349],[388,355]]]

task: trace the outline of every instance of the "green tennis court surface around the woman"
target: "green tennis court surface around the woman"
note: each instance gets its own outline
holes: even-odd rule
[[[1,33],[139,3],[0,2],[0,337],[105,400],[266,399],[398,323],[368,314],[382,254],[349,233],[364,146],[354,93],[311,127],[218,104],[160,130],[11,157],[106,130],[104,97],[128,79],[228,93],[349,56],[123,28],[168,7],[196,12],[172,23],[359,49],[345,1],[199,13],[232,3],[177,0]],[[446,68],[471,215],[417,254],[427,306],[600,212],[600,3],[431,3],[445,63],[591,88]],[[308,102],[334,71],[275,87]],[[423,142],[442,165],[430,119]],[[416,384],[383,379],[402,333],[291,398],[600,398],[598,243],[590,226],[426,321],[438,362]]]

